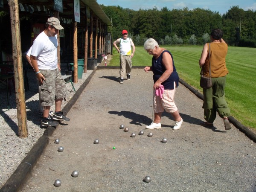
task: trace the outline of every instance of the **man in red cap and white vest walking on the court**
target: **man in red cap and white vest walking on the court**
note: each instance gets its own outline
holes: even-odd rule
[[[116,44],[120,44],[120,49]],[[122,38],[113,42],[113,46],[120,53],[120,83],[124,83],[126,73],[127,80],[131,79],[130,73],[132,68],[131,58],[134,56],[135,46],[131,38],[128,38],[127,30],[122,30]],[[131,52],[132,47],[132,52]]]

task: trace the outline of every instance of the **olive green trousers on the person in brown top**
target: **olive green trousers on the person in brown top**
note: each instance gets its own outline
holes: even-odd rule
[[[204,119],[213,123],[216,115],[223,118],[230,116],[230,108],[225,99],[226,76],[212,78],[212,87],[203,89],[204,93]]]

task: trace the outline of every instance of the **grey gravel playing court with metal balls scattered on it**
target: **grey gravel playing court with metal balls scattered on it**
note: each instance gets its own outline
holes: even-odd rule
[[[184,121],[180,130],[172,129],[167,113],[162,129],[147,130],[152,74],[133,69],[131,81],[124,84],[118,76],[117,69],[96,70],[69,111],[70,122],[49,138],[22,191],[256,191],[256,143],[233,125],[225,131],[220,118],[212,129],[200,126],[202,101],[182,84],[175,95]],[[138,134],[141,130],[143,136]],[[147,137],[149,132],[153,137]],[[163,137],[167,143],[161,143]],[[57,151],[59,146],[63,152]],[[71,177],[74,170],[79,177]],[[150,183],[143,182],[146,175]],[[56,179],[62,181],[60,187],[53,185]]]

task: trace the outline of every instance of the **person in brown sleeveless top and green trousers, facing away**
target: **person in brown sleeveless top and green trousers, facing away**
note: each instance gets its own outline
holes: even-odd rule
[[[212,76],[212,87],[203,88],[204,93],[204,119],[206,122],[201,123],[204,127],[213,127],[216,114],[223,119],[226,130],[231,129],[228,116],[230,108],[227,106],[225,99],[227,44],[222,39],[223,32],[221,29],[213,29],[211,33],[211,43],[204,45],[199,65],[203,67],[204,76],[209,77],[209,64]],[[210,47],[210,48],[209,48]],[[210,57],[209,57],[210,52]]]

